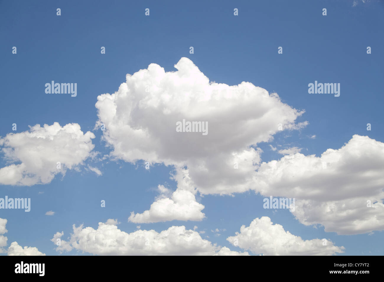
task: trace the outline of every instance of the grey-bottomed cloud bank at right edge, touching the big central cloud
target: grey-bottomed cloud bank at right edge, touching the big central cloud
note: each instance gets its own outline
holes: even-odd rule
[[[301,153],[262,163],[255,187],[262,195],[296,198],[293,214],[327,232],[384,229],[384,143],[353,135],[320,157]]]

